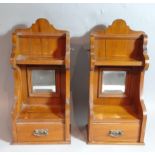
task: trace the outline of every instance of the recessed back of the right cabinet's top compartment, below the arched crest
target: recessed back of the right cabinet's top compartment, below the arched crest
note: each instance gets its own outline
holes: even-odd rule
[[[142,39],[95,39],[97,59],[117,58],[138,59],[142,53]]]

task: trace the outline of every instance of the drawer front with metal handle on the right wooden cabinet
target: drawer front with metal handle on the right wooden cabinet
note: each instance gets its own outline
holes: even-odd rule
[[[93,124],[93,141],[96,142],[138,142],[139,123]]]

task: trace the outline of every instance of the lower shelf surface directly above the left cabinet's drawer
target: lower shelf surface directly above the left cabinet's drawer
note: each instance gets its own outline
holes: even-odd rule
[[[44,104],[22,106],[18,121],[64,121],[64,109],[60,106]]]

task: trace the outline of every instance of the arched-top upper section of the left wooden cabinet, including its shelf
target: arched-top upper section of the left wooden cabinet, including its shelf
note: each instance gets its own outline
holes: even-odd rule
[[[64,65],[69,62],[69,33],[57,30],[46,19],[13,33],[11,63]]]

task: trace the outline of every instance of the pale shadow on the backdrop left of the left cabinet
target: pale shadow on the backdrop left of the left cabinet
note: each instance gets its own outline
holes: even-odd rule
[[[25,25],[17,25],[4,35],[0,35],[0,140],[11,142],[11,109],[14,104],[13,72],[10,65],[12,52],[12,33],[17,28]]]

